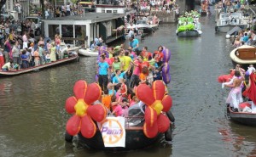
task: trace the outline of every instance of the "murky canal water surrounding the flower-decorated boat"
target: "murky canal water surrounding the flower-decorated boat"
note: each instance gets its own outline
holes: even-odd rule
[[[230,122],[217,77],[233,67],[230,40],[215,34],[214,15],[201,18],[203,34],[177,38],[176,24],[160,25],[140,47],[153,52],[160,45],[171,49],[172,81],[168,85],[176,118],[172,143],[122,154],[83,149],[64,140],[70,117],[64,109],[75,81],[94,81],[96,58],[25,75],[0,78],[0,156],[255,156],[253,127]]]

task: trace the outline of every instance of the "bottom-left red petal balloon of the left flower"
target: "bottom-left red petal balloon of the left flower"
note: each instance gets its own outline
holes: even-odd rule
[[[75,136],[79,133],[81,126],[81,119],[78,115],[73,115],[68,121],[66,130],[69,135]]]

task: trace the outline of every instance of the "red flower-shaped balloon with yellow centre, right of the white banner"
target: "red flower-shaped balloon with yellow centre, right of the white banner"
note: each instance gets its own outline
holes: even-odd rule
[[[158,132],[166,132],[171,121],[162,114],[172,107],[172,97],[165,95],[166,86],[163,81],[154,81],[152,88],[141,84],[136,89],[137,98],[147,105],[143,132],[146,137],[155,137]]]

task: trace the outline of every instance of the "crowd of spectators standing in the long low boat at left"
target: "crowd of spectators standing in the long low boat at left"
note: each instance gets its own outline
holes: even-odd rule
[[[49,64],[58,59],[64,59],[71,53],[70,46],[61,48],[61,37],[56,34],[54,42],[50,39],[30,41],[26,31],[20,41],[10,37],[6,39],[3,48],[0,48],[0,68],[4,71],[20,70],[41,64]]]

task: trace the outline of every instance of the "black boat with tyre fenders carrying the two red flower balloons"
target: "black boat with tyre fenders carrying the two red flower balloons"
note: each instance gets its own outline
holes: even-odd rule
[[[174,121],[172,112],[169,112],[169,114],[171,114],[172,121]],[[172,141],[172,131],[174,129],[173,124],[169,128],[169,135],[166,135],[166,133],[158,133],[158,135],[153,138],[148,138],[144,135],[143,124],[144,113],[139,105],[134,105],[129,109],[128,117],[125,117],[125,147],[105,147],[102,139],[102,132],[99,128],[97,128],[95,136],[91,138],[83,137],[82,134],[79,133],[79,144],[84,148],[116,152],[144,149],[154,143],[160,142],[160,139],[163,138],[166,138],[166,141]],[[65,138],[66,141],[71,142],[73,137],[68,135],[66,132]]]

